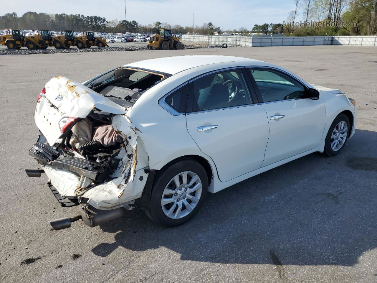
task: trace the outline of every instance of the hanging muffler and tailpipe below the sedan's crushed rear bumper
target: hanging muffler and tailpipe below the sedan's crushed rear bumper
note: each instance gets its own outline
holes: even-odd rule
[[[78,210],[80,214],[75,217],[55,219],[49,221],[49,223],[54,230],[61,230],[69,228],[72,222],[81,219],[89,227],[95,227],[123,216],[123,208],[102,210],[93,208],[93,206],[81,204]]]

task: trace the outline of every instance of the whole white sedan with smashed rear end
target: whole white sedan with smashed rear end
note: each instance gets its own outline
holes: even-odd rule
[[[339,89],[230,56],[179,56],[112,69],[40,92],[29,150],[50,189],[93,227],[139,207],[163,226],[192,218],[215,193],[296,158],[339,154],[356,102]]]

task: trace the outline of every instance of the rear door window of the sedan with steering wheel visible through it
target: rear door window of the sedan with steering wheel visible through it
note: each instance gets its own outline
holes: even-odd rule
[[[192,112],[251,104],[241,70],[224,71],[193,82]]]

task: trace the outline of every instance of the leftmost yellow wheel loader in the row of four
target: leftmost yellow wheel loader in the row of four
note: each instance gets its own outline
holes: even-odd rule
[[[12,29],[9,34],[0,36],[0,44],[6,45],[8,49],[20,49],[27,47],[28,49],[43,48],[40,44],[42,39],[40,34],[25,36],[23,29]]]

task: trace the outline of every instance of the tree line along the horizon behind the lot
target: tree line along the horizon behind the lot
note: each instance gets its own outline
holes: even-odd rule
[[[293,36],[313,35],[377,35],[377,0],[293,0],[294,9],[289,12],[287,23],[333,22],[336,26],[293,26],[285,22],[254,25],[251,30],[245,27],[226,30],[230,33],[286,34]],[[339,24],[354,22],[356,26],[339,27]],[[0,29],[22,28],[26,30],[51,29],[53,31],[103,31],[103,32],[139,32],[155,33],[160,28],[172,29],[175,34],[198,33],[212,35],[221,30],[211,22],[203,25],[181,26],[164,22],[140,25],[135,20],[107,20],[99,16],[47,14],[26,12],[21,17],[16,13],[0,16]]]

